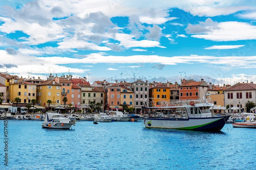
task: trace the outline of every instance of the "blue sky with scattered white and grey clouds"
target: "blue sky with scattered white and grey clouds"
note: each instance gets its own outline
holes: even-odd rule
[[[256,83],[253,0],[5,0],[0,72]]]

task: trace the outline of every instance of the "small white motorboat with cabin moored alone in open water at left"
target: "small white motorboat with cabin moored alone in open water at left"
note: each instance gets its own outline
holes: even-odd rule
[[[56,112],[46,112],[46,117],[42,123],[43,128],[52,129],[70,129],[72,125],[75,126],[76,122],[65,118],[62,114]]]

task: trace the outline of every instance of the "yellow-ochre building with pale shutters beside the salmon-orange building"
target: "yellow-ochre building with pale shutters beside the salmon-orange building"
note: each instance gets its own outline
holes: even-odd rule
[[[37,85],[37,100],[41,106],[49,107],[47,100],[51,100],[50,107],[61,105],[61,84],[55,80],[46,80]]]

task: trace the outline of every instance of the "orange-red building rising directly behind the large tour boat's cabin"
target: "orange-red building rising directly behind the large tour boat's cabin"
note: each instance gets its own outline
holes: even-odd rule
[[[207,88],[208,84],[204,79],[201,79],[200,82],[196,82],[193,79],[183,79],[179,87],[180,100],[205,99]]]

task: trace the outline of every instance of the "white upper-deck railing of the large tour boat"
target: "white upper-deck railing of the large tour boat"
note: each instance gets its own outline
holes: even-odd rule
[[[172,106],[185,106],[185,105],[196,105],[199,103],[209,103],[205,99],[189,99],[189,100],[163,100],[160,98],[145,98],[143,100],[143,106],[146,108],[150,107],[172,107]]]

